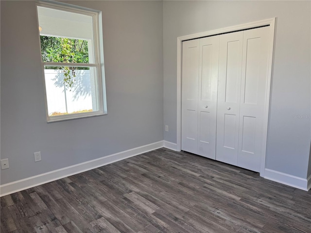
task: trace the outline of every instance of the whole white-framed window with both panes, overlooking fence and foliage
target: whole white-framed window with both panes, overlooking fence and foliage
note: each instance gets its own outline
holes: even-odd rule
[[[101,14],[37,3],[47,121],[106,114]]]

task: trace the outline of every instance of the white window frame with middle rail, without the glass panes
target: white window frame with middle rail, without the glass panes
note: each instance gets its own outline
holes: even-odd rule
[[[43,77],[43,82],[44,82],[44,97],[45,97],[47,122],[106,115],[107,104],[106,104],[105,77],[104,77],[104,48],[103,48],[104,43],[103,43],[102,12],[80,7],[80,6],[67,4],[67,3],[61,3],[61,2],[55,3],[51,1],[36,2],[36,11],[37,11],[38,6],[51,8],[55,10],[67,11],[67,12],[76,13],[76,14],[82,14],[82,15],[90,16],[93,19],[94,63],[85,64],[85,63],[43,62],[42,55],[41,55],[42,77]],[[40,38],[38,13],[37,13],[37,24],[38,24],[38,35]],[[42,54],[41,45],[39,49],[40,49],[40,54]],[[47,88],[46,88],[45,75],[44,75],[45,66],[96,67],[96,71],[97,71],[97,74],[96,74],[97,86],[96,87],[98,91],[98,107],[99,107],[98,111],[60,115],[60,116],[49,116],[47,90],[46,90]]]

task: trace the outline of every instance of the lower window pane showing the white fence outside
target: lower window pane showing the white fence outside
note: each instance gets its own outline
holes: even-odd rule
[[[96,67],[44,67],[49,116],[99,111]]]

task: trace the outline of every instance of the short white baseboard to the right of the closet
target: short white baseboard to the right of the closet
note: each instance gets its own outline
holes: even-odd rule
[[[311,176],[309,176],[308,179],[304,179],[304,178],[300,178],[300,177],[286,174],[283,172],[265,168],[264,178],[271,180],[271,181],[278,182],[278,183],[283,183],[283,184],[286,184],[286,185],[289,185],[295,188],[299,188],[305,191],[308,191],[311,187],[311,182],[310,182]]]

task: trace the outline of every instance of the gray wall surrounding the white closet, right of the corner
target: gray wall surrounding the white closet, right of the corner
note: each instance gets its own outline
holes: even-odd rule
[[[276,17],[266,167],[307,178],[310,15],[310,1],[164,1],[164,125],[170,127],[170,132],[164,132],[164,140],[176,143],[176,38]]]

